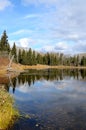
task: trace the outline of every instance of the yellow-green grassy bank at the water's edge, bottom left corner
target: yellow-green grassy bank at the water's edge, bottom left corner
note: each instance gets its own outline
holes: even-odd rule
[[[13,125],[14,120],[19,116],[18,111],[13,107],[12,96],[0,86],[0,129],[6,129]]]

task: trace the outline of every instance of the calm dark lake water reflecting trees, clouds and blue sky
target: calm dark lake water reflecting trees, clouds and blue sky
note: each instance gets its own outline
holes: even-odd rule
[[[21,114],[9,130],[86,130],[86,70],[28,70],[8,90]]]

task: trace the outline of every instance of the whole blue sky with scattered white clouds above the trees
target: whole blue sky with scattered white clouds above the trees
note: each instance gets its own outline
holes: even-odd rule
[[[12,46],[86,52],[86,0],[0,0],[0,36]]]

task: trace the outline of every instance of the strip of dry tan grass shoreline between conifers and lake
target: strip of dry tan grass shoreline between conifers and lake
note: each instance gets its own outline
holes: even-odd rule
[[[11,71],[7,71],[7,66],[1,66],[0,67],[0,77],[6,76],[7,74],[12,74],[12,76],[14,77],[15,75],[24,72],[24,70],[26,69],[86,69],[86,66],[48,66],[48,65],[32,65],[32,66],[28,66],[28,65],[21,65],[21,64],[16,64],[13,63],[12,64],[12,72]]]

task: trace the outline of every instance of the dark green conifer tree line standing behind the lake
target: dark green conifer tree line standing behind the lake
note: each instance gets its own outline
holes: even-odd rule
[[[8,42],[8,36],[6,31],[3,32],[0,39],[0,52],[7,52],[11,55],[14,55],[14,62],[23,64],[23,65],[64,65],[64,66],[86,66],[86,57],[79,55],[74,56],[65,56],[63,53],[39,53],[35,50],[29,48],[18,49],[16,44],[13,44],[13,47],[10,47]]]

